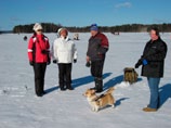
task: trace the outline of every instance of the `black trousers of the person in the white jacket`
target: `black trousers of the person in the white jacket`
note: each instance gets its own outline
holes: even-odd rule
[[[58,79],[61,89],[71,87],[71,63],[58,63]]]

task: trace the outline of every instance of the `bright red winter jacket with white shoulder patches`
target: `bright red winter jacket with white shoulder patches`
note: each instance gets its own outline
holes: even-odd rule
[[[44,35],[34,35],[28,42],[28,60],[35,63],[49,61],[50,43]]]

